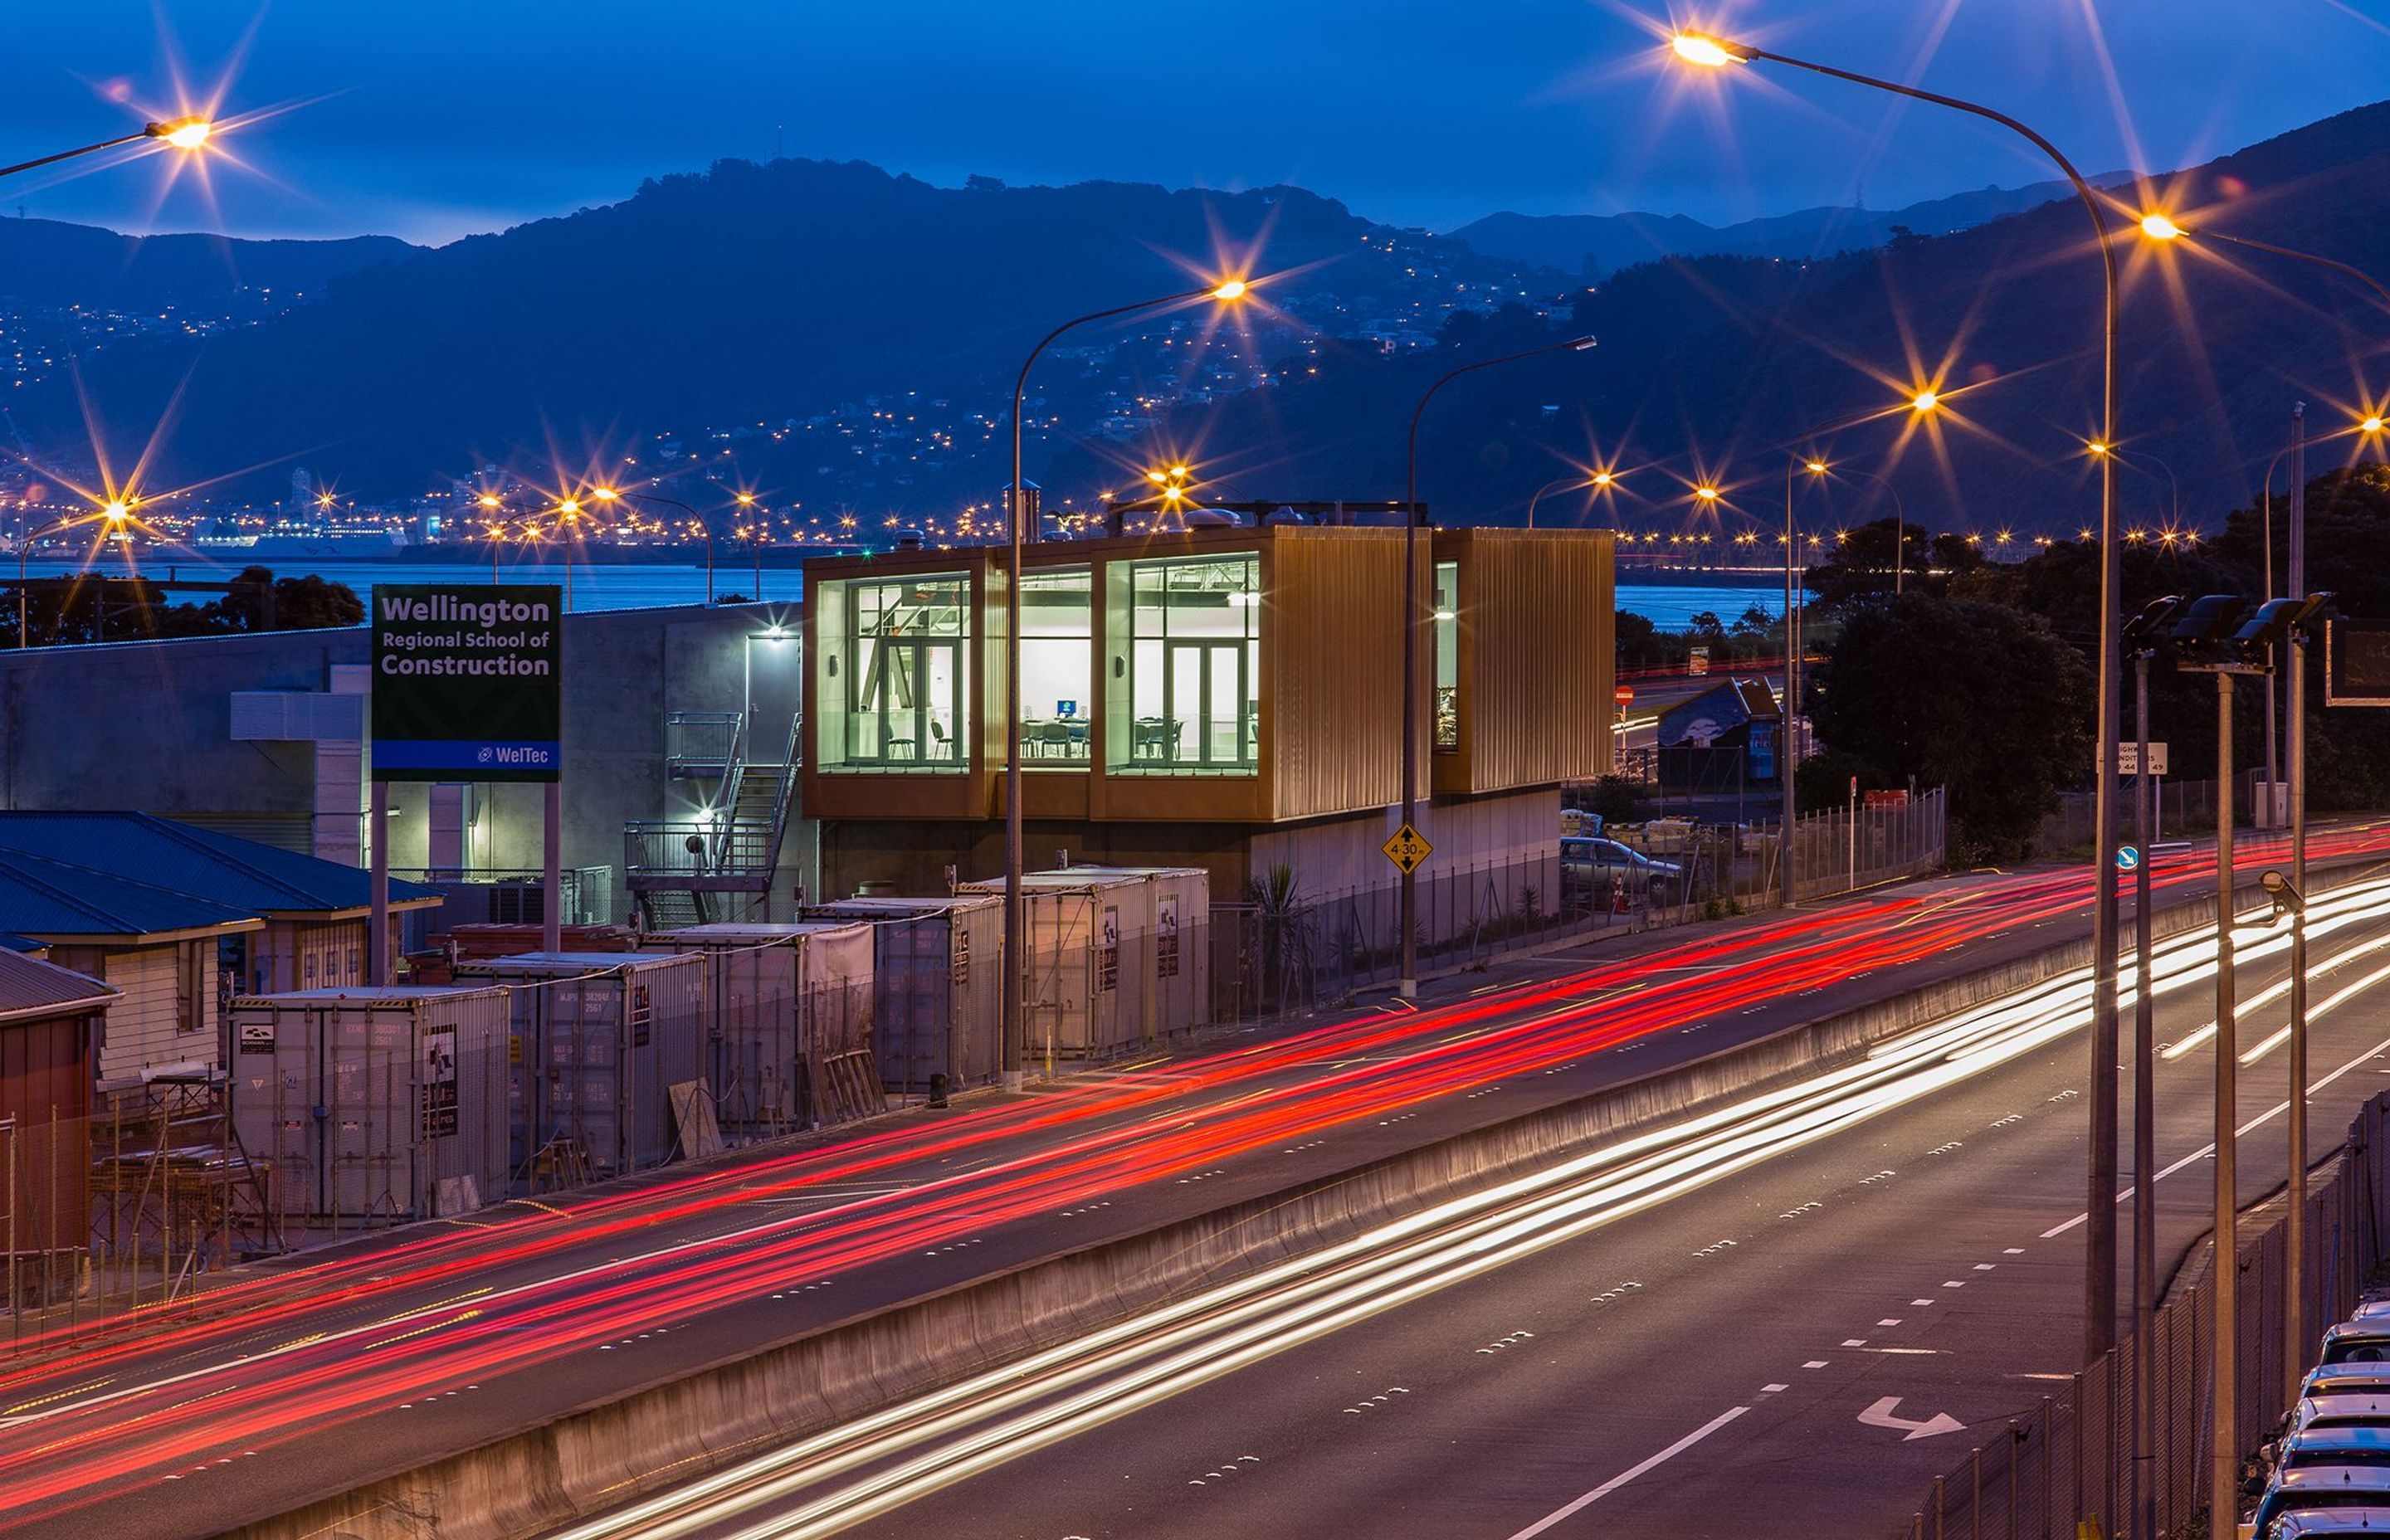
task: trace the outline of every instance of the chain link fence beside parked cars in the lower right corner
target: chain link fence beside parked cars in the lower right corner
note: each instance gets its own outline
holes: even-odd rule
[[[2254,1452],[2292,1401],[2292,1373],[2314,1363],[2323,1330],[2357,1308],[2359,1284],[2383,1260],[2383,1131],[2390,1093],[2349,1124],[2340,1155],[2309,1184],[2306,1198],[2306,1339],[2285,1342],[2290,1227],[2275,1220],[2239,1253],[2239,1330],[2235,1373],[2239,1408],[2235,1459]],[[2247,1234],[2247,1232],[2244,1232]],[[2156,1313],[2151,1461],[2146,1483],[2158,1535],[2230,1533],[2208,1526],[2213,1442],[2216,1275],[2175,1289]],[[2132,1339],[2096,1358],[2039,1406],[2022,1406],[2005,1428],[1934,1480],[1898,1530],[1907,1540],[2077,1540],[2082,1533],[2129,1535],[2134,1514]],[[2084,1528],[2084,1526],[2098,1528]]]

